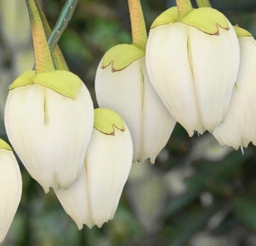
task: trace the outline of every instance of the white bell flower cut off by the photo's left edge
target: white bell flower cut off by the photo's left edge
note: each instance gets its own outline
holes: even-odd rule
[[[14,219],[21,201],[21,171],[11,147],[0,139],[0,243]]]

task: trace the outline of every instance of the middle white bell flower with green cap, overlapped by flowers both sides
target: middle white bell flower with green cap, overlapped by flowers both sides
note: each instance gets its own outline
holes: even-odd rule
[[[149,82],[144,51],[127,44],[108,50],[97,67],[95,92],[100,107],[112,108],[127,123],[133,160],[154,163],[176,121]]]

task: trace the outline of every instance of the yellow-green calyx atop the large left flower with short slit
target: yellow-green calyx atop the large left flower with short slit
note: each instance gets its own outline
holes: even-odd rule
[[[28,71],[19,76],[9,87],[9,90],[20,86],[40,84],[63,96],[75,100],[82,86],[82,80],[65,70],[54,70],[52,72],[42,72],[36,74],[35,71]]]

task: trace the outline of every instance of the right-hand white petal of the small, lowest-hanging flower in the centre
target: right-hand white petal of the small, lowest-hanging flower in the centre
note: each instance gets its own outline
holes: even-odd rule
[[[94,129],[85,166],[91,218],[100,228],[113,218],[132,166],[132,139],[129,131],[115,130],[112,136]]]

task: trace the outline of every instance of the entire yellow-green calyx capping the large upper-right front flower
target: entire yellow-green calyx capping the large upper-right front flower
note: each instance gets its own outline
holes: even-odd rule
[[[193,26],[210,35],[218,35],[219,28],[229,30],[228,19],[223,13],[209,7],[193,9],[193,11],[180,20],[178,20],[178,9],[172,7],[161,13],[161,15],[153,22],[151,28],[176,22]]]

